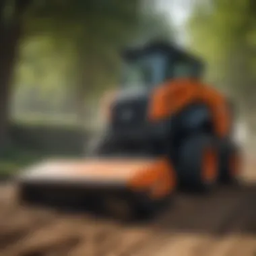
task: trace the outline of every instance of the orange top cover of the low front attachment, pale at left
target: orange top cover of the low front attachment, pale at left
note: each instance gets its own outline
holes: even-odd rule
[[[152,188],[149,196],[154,198],[163,197],[176,187],[174,170],[165,159],[51,160],[32,166],[25,177],[29,181],[119,183],[135,191]]]

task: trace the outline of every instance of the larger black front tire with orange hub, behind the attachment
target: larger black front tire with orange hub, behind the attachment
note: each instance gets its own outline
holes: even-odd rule
[[[211,168],[204,167],[205,152],[212,152]],[[211,155],[211,154],[210,154]],[[213,165],[214,164],[214,165]],[[182,187],[211,191],[218,183],[218,147],[214,137],[207,134],[191,135],[179,149],[178,179]],[[207,174],[206,171],[210,174]]]

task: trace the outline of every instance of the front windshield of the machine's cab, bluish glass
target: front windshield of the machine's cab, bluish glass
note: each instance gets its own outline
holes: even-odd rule
[[[125,88],[152,88],[164,81],[166,59],[162,55],[139,57],[127,61],[123,67]]]

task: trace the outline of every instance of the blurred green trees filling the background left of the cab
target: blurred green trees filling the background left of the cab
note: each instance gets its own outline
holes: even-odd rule
[[[118,84],[124,46],[172,36],[170,24],[150,9],[150,1],[3,0],[1,134],[10,115],[62,113],[86,119],[86,106]]]

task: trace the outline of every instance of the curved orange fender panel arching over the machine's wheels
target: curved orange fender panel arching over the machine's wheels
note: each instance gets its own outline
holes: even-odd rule
[[[150,105],[152,121],[164,119],[193,103],[206,104],[212,113],[214,129],[220,137],[230,129],[226,99],[214,88],[193,79],[177,79],[156,88]]]

